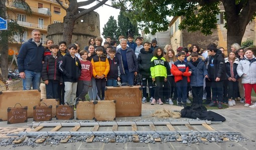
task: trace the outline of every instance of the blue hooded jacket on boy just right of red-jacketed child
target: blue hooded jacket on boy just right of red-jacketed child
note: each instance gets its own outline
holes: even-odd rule
[[[190,59],[188,59],[188,60],[190,60]],[[190,85],[191,86],[203,86],[204,76],[208,75],[207,68],[206,68],[204,61],[201,58],[198,58],[197,61],[199,61],[197,66],[192,64],[192,62],[193,62],[192,60],[187,62],[189,69],[192,70],[192,73],[190,76]]]

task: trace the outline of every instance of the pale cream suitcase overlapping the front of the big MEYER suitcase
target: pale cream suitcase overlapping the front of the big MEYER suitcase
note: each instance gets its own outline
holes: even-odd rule
[[[95,121],[115,120],[115,100],[93,101],[95,105]]]

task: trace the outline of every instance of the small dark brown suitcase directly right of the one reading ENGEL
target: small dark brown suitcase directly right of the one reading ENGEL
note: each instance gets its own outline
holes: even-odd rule
[[[72,120],[74,118],[74,105],[67,102],[56,106],[56,119]]]

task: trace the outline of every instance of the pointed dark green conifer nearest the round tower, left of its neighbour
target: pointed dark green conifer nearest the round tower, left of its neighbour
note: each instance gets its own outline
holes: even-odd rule
[[[110,36],[111,39],[118,40],[117,23],[112,15],[109,17],[108,21],[104,25],[102,35],[104,38]]]

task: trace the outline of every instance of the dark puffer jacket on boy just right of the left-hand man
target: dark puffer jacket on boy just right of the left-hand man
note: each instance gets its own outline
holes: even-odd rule
[[[45,80],[58,80],[63,82],[61,72],[59,71],[59,62],[62,60],[61,55],[53,57],[52,55],[46,55],[44,59],[41,76],[43,81]]]

